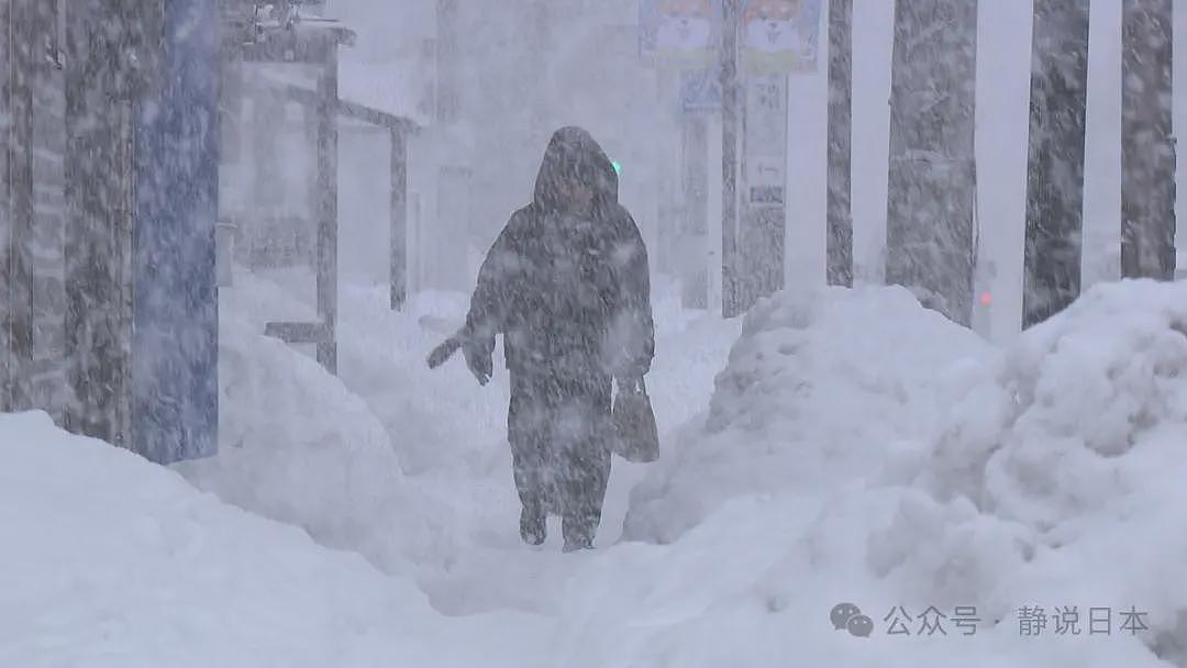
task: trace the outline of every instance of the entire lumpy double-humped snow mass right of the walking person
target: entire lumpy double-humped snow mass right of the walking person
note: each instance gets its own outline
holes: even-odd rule
[[[880,664],[1187,666],[1185,332],[1187,284],[1098,286],[1004,354],[899,288],[780,295],[748,316],[700,433],[635,490],[627,533],[725,556],[710,579],[745,564],[745,593],[710,610],[766,609],[750,640],[777,618],[773,647],[806,656],[862,661],[821,628],[848,600]],[[929,605],[975,606],[977,636],[887,636],[896,606]],[[1024,606],[1046,637],[1022,634]],[[1056,606],[1080,635],[1056,636]],[[1088,634],[1091,607],[1110,635]],[[1131,610],[1148,629],[1121,628]]]

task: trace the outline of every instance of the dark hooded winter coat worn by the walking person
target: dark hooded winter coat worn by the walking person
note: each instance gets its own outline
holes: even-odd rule
[[[565,179],[594,189],[573,214]],[[468,355],[489,355],[495,335],[508,370],[642,376],[654,325],[647,249],[618,203],[610,159],[580,128],[558,131],[544,154],[533,202],[515,211],[487,254],[466,317]]]

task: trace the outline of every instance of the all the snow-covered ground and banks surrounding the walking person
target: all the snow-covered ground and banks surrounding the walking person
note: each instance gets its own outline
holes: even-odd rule
[[[584,554],[519,541],[506,373],[424,367],[464,298],[344,285],[335,378],[260,335],[306,284],[223,291],[214,459],[0,416],[0,664],[1187,666],[1187,284],[1097,286],[1007,349],[901,288],[738,323],[660,286],[664,453],[615,462]]]

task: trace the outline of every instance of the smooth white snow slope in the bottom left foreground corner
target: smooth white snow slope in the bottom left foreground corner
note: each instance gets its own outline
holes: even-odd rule
[[[0,666],[544,666],[514,612],[446,618],[405,580],[177,473],[0,415]]]

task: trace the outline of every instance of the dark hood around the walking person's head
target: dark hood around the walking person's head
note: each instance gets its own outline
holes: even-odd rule
[[[563,210],[564,180],[577,179],[595,191],[595,206],[605,210],[618,203],[618,174],[594,136],[584,129],[567,126],[553,133],[544,151],[540,172],[535,177],[535,205],[546,210]]]

